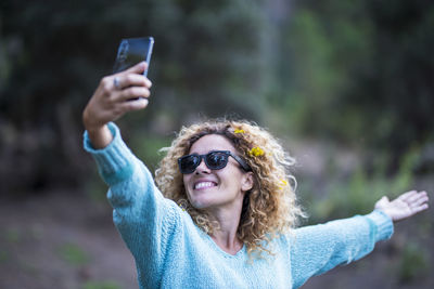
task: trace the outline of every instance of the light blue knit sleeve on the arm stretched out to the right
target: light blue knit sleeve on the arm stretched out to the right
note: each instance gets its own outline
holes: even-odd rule
[[[370,253],[376,241],[391,238],[393,222],[382,211],[295,229],[290,238],[293,287],[314,275]]]

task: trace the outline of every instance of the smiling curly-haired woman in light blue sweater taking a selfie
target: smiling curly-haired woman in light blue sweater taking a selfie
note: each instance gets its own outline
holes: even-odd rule
[[[290,185],[293,160],[246,121],[183,128],[156,186],[112,122],[146,107],[145,67],[103,78],[84,111],[85,148],[110,186],[141,288],[297,288],[368,254],[392,236],[393,221],[427,208],[426,193],[413,191],[383,197],[368,215],[294,228],[303,213]]]

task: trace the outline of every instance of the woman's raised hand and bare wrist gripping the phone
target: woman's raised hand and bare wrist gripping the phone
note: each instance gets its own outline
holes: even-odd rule
[[[141,62],[100,81],[82,113],[82,121],[94,148],[103,148],[112,142],[113,136],[106,126],[110,121],[148,106],[152,82],[143,76],[146,68],[148,64]]]

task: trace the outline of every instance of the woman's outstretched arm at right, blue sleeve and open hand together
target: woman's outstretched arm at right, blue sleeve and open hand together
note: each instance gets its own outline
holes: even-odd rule
[[[393,222],[426,210],[427,201],[425,192],[411,191],[392,201],[383,197],[370,214],[296,229],[290,240],[294,288],[314,275],[367,255],[375,242],[392,236]]]

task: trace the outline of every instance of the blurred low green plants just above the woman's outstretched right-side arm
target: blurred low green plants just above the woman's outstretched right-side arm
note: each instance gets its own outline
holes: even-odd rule
[[[387,161],[380,159],[370,173],[365,167],[356,167],[346,178],[339,178],[339,173],[330,173],[330,179],[319,192],[314,185],[306,185],[307,189],[303,189],[301,195],[307,203],[309,222],[315,224],[369,213],[382,196],[394,199],[411,189],[414,185],[413,169],[418,158],[418,152],[409,150],[401,159],[398,172],[393,175],[387,173]],[[334,171],[332,167],[333,163],[330,163],[328,170]],[[302,182],[309,183],[309,180],[303,179]]]

